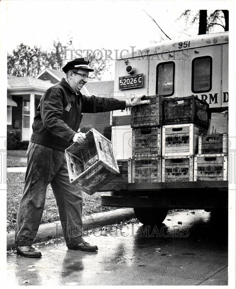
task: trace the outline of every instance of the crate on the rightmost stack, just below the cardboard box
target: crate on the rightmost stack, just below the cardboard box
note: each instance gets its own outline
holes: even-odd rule
[[[198,138],[198,153],[228,153],[228,134],[207,134]]]

